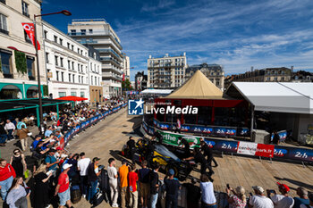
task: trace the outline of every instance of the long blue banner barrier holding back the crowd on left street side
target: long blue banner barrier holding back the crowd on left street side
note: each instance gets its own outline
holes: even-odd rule
[[[112,109],[112,111],[106,111],[106,112],[103,112],[103,113],[100,113],[90,119],[88,119],[87,121],[83,121],[80,123],[80,125],[77,125],[75,128],[72,128],[70,129],[65,135],[63,138],[60,139],[60,146],[62,148],[64,148],[68,142],[70,141],[70,139],[75,136],[76,134],[78,134],[81,130],[83,129],[87,129],[89,128],[89,126],[91,126],[92,124],[96,123],[97,121],[100,121],[104,118],[106,118],[106,116],[114,113],[114,112],[118,112],[119,110],[121,110],[123,107],[125,107],[127,105],[126,104],[121,104],[117,107],[114,107]]]

